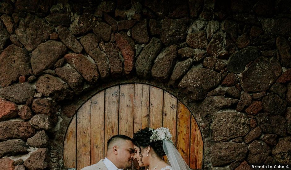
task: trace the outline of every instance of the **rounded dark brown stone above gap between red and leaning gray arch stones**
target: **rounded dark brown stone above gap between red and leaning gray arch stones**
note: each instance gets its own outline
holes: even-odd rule
[[[131,29],[131,36],[139,44],[146,44],[149,41],[146,19],[137,23]]]

